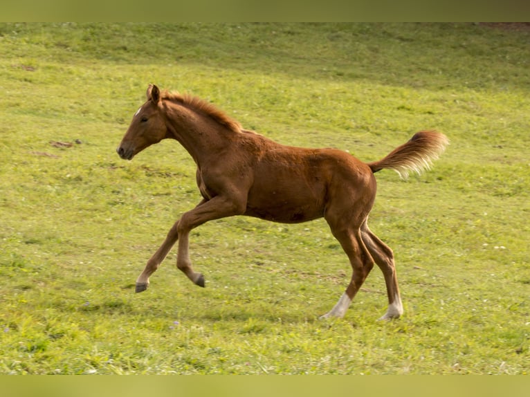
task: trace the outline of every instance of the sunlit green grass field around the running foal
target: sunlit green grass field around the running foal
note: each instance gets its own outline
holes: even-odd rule
[[[483,24],[0,24],[0,373],[529,372],[530,30]],[[421,129],[450,147],[376,174],[372,230],[405,314],[349,281],[325,221],[236,217],[134,281],[199,202],[174,141],[116,147],[147,84],[288,145],[377,160]],[[66,144],[66,145],[65,145]]]

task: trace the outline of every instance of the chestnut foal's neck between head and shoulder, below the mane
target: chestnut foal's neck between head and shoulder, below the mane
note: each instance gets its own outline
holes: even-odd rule
[[[232,142],[226,127],[192,109],[172,104],[167,108],[172,138],[188,151],[197,165],[215,158]]]

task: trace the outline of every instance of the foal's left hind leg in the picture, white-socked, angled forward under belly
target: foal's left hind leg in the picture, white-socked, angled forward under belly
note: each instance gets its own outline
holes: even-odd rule
[[[329,222],[329,221],[328,221]],[[342,294],[337,304],[333,306],[331,311],[322,315],[320,318],[327,317],[344,317],[346,311],[354,299],[361,285],[374,267],[374,261],[370,256],[363,239],[361,238],[360,230],[346,229],[339,230],[331,226],[333,236],[340,242],[342,249],[346,252],[349,258],[353,273],[351,280],[345,292]]]

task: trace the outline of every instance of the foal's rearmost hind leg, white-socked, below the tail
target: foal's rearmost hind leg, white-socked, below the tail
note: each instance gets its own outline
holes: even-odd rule
[[[385,315],[379,320],[398,318],[403,314],[403,304],[401,304],[401,297],[399,296],[394,253],[389,246],[369,230],[367,222],[363,223],[360,232],[370,255],[374,258],[377,266],[381,268],[387,286],[388,308]]]

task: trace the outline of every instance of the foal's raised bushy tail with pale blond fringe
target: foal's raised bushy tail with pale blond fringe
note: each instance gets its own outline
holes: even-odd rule
[[[408,178],[409,172],[421,174],[424,169],[430,169],[432,161],[436,160],[449,145],[448,138],[436,131],[421,131],[415,133],[405,144],[396,147],[385,158],[368,163],[372,172],[381,169],[394,169],[401,178]]]

